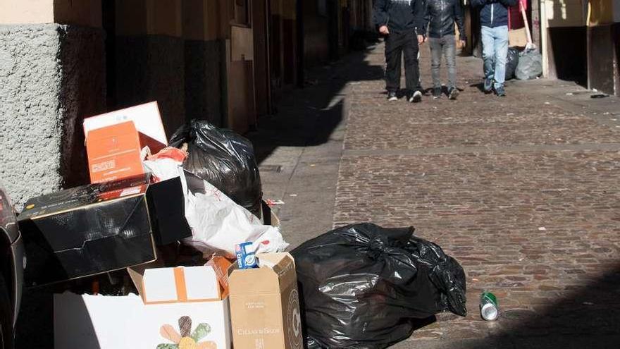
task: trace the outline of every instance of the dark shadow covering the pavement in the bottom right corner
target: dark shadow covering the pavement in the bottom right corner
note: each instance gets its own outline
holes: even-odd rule
[[[502,312],[499,331],[461,348],[620,348],[620,264],[566,288],[573,290],[551,304]]]

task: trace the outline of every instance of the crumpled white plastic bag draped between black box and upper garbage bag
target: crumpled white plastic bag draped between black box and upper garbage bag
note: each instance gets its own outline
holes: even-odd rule
[[[178,154],[151,157],[143,161],[144,167],[159,180],[181,177],[185,194],[185,219],[192,228],[192,238],[183,240],[206,257],[213,254],[235,258],[235,245],[250,241],[254,252],[282,252],[288,247],[280,228],[266,226],[261,221],[233,202],[230,197],[206,180],[200,180],[202,190],[190,190],[187,176],[182,169]],[[197,178],[192,177],[192,180]],[[194,183],[195,185],[195,183]]]

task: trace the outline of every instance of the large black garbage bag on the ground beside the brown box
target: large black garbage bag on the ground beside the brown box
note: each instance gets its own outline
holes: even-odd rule
[[[463,269],[413,233],[356,224],[292,251],[315,348],[387,348],[411,336],[415,319],[466,315]]]

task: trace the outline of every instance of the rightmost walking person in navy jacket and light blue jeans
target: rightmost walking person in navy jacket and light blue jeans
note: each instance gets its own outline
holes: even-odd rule
[[[482,25],[482,58],[484,61],[484,90],[500,97],[506,95],[506,58],[508,56],[508,8],[517,0],[472,0],[480,9]]]

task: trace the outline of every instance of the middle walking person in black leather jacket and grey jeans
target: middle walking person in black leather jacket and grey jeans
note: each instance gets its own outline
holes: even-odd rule
[[[426,15],[423,28],[428,27],[430,42],[431,73],[433,75],[433,97],[441,96],[441,80],[439,69],[442,56],[445,56],[448,67],[448,95],[457,99],[457,42],[454,23],[459,27],[459,42],[465,46],[464,16],[461,0],[426,0]]]

